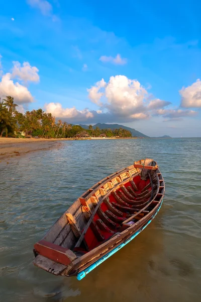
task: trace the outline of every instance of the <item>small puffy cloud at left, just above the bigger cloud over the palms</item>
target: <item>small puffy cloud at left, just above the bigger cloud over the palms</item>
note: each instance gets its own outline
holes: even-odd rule
[[[18,79],[25,83],[27,82],[39,82],[38,68],[31,66],[29,62],[24,62],[21,66],[20,62],[14,61],[14,67],[12,69],[12,79]]]

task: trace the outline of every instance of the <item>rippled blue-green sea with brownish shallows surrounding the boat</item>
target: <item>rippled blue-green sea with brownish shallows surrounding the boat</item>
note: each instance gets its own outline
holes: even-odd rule
[[[200,302],[201,138],[62,141],[0,166],[0,300]],[[163,205],[132,242],[84,279],[32,263],[33,246],[85,190],[153,158]]]

